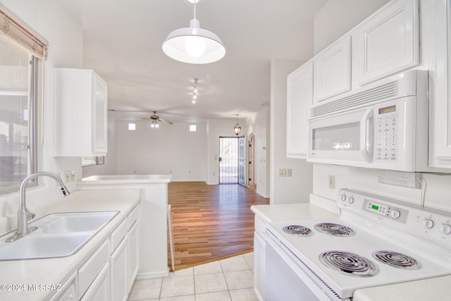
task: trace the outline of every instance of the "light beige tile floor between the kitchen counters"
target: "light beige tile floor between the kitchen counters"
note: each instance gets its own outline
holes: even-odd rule
[[[254,301],[254,253],[135,281],[129,301]]]

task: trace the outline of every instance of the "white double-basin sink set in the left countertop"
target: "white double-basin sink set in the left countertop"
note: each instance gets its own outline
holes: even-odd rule
[[[0,238],[0,260],[44,259],[74,254],[118,211],[56,213],[30,223],[37,230],[13,242]]]

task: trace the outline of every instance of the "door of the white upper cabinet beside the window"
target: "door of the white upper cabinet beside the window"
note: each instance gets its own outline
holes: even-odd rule
[[[108,121],[106,117],[108,90],[106,82],[102,80],[99,75],[93,73],[94,85],[93,85],[93,112],[94,120],[92,125],[93,135],[93,152],[95,155],[102,156],[106,154],[107,150],[107,130]]]

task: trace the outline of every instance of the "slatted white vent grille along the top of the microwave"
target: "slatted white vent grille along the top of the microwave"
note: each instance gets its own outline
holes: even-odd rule
[[[395,80],[393,82],[388,82],[384,85],[379,85],[378,87],[373,87],[369,90],[352,94],[333,102],[311,107],[310,118],[327,116],[346,109],[355,109],[360,106],[366,106],[388,99],[393,99],[398,96],[400,96],[399,83],[398,80]]]

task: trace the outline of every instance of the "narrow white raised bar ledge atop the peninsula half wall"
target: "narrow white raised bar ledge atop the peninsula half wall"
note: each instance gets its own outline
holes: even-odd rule
[[[77,185],[127,184],[127,183],[169,183],[171,175],[111,175],[82,178]]]

